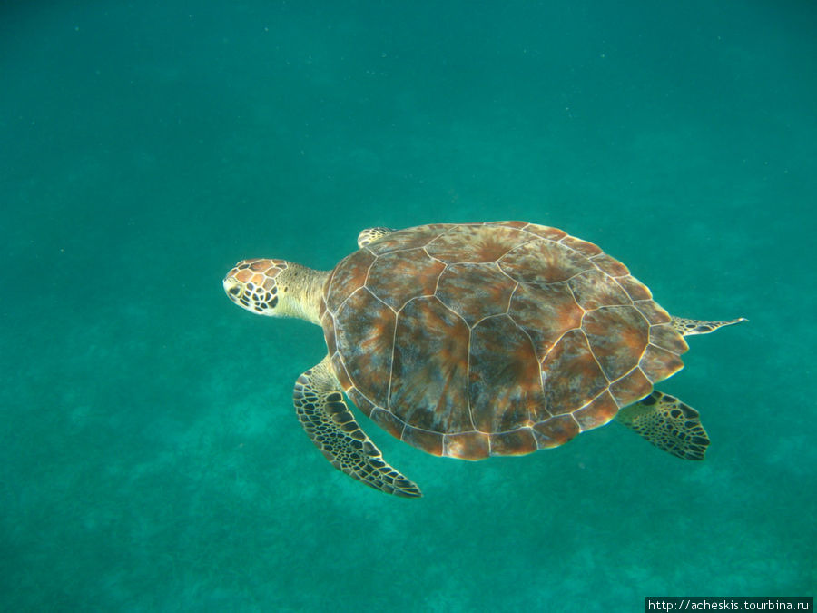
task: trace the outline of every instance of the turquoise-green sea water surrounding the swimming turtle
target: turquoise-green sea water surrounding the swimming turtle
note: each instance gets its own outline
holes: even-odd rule
[[[813,595],[817,10],[807,2],[5,3],[0,608],[642,610]],[[599,243],[690,339],[702,463],[618,424],[323,459],[317,328],[236,309],[243,257],[523,219]]]

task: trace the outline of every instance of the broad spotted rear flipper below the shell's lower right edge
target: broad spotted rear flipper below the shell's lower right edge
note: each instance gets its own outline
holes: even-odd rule
[[[658,449],[684,460],[704,460],[709,437],[698,411],[669,394],[653,391],[619,410],[615,419]]]

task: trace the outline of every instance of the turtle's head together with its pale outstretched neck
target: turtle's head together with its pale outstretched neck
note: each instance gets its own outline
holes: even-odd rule
[[[241,260],[224,277],[224,292],[242,309],[271,317],[318,323],[323,284],[329,272],[285,260]]]

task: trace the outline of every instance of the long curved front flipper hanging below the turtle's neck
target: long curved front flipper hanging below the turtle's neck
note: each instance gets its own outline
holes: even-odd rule
[[[387,494],[407,498],[422,496],[417,485],[391,468],[380,450],[360,430],[343,401],[329,356],[300,375],[293,397],[300,425],[332,466]]]

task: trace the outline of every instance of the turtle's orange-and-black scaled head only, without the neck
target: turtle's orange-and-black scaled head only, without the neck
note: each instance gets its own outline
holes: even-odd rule
[[[242,309],[278,317],[287,315],[281,303],[281,272],[289,267],[283,260],[241,260],[224,277],[224,292]],[[284,275],[286,276],[286,275]]]

